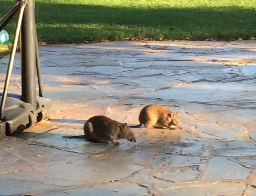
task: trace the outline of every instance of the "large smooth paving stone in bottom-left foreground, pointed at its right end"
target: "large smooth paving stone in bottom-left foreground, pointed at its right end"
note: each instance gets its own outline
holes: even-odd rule
[[[113,165],[114,167],[111,167]],[[0,175],[0,187],[1,190],[4,190],[1,194],[22,194],[50,189],[63,189],[88,183],[109,182],[127,177],[140,169],[142,169],[141,166],[132,163],[124,164],[90,158],[79,161],[74,160],[33,170]],[[13,184],[15,189],[9,189],[10,183]]]

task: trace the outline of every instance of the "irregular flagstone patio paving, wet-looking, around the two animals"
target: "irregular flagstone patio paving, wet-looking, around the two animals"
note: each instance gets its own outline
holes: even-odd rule
[[[256,195],[256,42],[40,47],[48,120],[0,140],[0,195]],[[0,89],[8,57],[0,59]],[[20,56],[9,91],[20,94]],[[95,115],[138,124],[162,104],[183,130],[132,128],[136,143],[82,135]]]

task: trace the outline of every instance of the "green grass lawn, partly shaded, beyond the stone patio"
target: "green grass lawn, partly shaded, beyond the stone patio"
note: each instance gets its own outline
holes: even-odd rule
[[[13,0],[1,0],[0,13]],[[256,37],[256,0],[36,0],[39,41]],[[5,29],[12,34],[15,20]]]

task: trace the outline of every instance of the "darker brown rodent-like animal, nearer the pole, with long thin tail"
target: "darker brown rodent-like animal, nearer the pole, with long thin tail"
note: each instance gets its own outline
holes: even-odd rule
[[[94,116],[86,121],[83,126],[85,135],[83,136],[65,136],[67,138],[85,138],[86,140],[107,140],[114,145],[119,142],[115,140],[127,139],[130,142],[136,142],[134,134],[126,123],[119,123],[105,116]]]

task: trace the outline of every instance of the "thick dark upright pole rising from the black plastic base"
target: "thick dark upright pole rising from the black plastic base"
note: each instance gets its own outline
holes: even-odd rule
[[[29,0],[21,24],[21,100],[36,109],[35,1]]]

